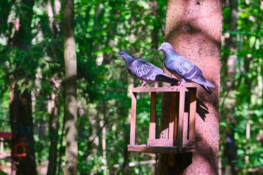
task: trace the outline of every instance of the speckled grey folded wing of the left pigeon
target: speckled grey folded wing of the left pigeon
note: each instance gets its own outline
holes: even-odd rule
[[[154,80],[157,74],[163,74],[162,69],[144,59],[133,61],[129,68],[136,76],[148,80]]]

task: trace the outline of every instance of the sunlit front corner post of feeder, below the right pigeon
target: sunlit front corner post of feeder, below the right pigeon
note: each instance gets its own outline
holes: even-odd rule
[[[182,150],[183,146],[183,115],[184,115],[184,98],[185,91],[180,91],[179,95],[179,120],[178,120],[178,147],[179,151]]]

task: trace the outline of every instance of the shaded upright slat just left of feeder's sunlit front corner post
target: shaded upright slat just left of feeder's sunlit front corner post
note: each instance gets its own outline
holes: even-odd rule
[[[170,116],[169,116],[169,129],[168,129],[168,139],[176,139],[176,135],[174,135],[174,123],[175,121],[175,98],[176,92],[171,92],[170,96]]]

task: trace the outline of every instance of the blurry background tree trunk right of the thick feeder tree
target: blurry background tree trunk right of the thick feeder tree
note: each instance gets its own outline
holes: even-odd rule
[[[231,31],[236,31],[237,27],[237,0],[230,0],[226,1],[224,4],[225,7],[230,8],[230,16],[227,19],[225,19],[225,23],[229,24],[230,28],[228,29],[228,32],[225,34],[225,40],[224,40],[224,48],[230,49],[232,54],[224,53],[223,56],[223,62],[225,70],[224,76],[222,76],[223,84],[226,84],[224,86],[225,91],[228,91],[228,102],[225,102],[225,105],[221,108],[221,114],[222,117],[226,119],[227,127],[222,133],[225,135],[222,140],[222,143],[224,143],[224,156],[227,159],[227,164],[229,166],[226,166],[225,173],[227,174],[236,174],[236,161],[237,160],[237,147],[234,139],[234,128],[235,128],[235,118],[233,117],[234,107],[236,104],[236,96],[235,93],[232,91],[234,86],[234,79],[235,79],[235,64],[236,64],[236,58],[237,55],[236,52],[236,35],[230,34]],[[226,101],[226,100],[225,100]]]

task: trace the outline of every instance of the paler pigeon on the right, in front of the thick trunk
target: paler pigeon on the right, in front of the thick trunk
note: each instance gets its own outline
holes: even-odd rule
[[[200,68],[175,51],[171,44],[163,42],[158,50],[164,51],[164,66],[169,72],[180,80],[178,86],[192,81],[200,84],[209,94],[212,93],[207,86],[216,86],[204,78],[203,72]]]

